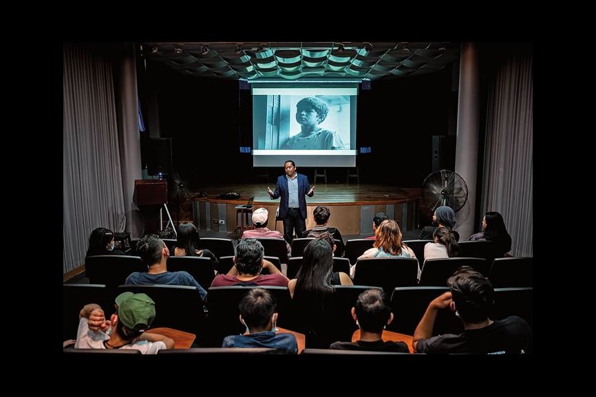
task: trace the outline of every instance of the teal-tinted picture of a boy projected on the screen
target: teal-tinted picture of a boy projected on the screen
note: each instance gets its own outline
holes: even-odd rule
[[[350,149],[350,97],[266,98],[266,128],[255,149]]]

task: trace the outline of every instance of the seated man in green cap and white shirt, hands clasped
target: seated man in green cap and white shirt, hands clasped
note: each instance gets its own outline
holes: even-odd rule
[[[123,292],[116,297],[116,306],[117,314],[108,321],[99,305],[85,305],[78,323],[76,349],[135,349],[142,354],[173,349],[173,339],[145,332],[156,317],[155,302],[147,294]]]

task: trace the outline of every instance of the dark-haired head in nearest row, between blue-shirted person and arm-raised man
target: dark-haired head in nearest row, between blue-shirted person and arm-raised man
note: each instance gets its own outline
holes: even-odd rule
[[[390,316],[391,308],[385,303],[383,290],[371,288],[359,295],[356,301],[356,317],[363,331],[382,332]]]

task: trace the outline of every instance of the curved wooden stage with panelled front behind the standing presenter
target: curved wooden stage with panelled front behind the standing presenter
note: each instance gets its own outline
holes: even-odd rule
[[[268,228],[277,229],[283,233],[282,222],[275,222],[279,199],[270,200],[267,186],[275,190],[275,184],[209,186],[205,191],[206,197],[194,199],[195,225],[202,230],[228,233],[232,237],[234,219],[237,216],[235,206],[246,204],[248,197],[254,195],[253,209],[267,208]],[[228,192],[240,193],[240,198],[237,200],[218,198]],[[324,205],[329,206],[331,210],[328,226],[339,228],[342,235],[372,235],[372,217],[380,212],[398,221],[403,230],[412,230],[418,227],[419,200],[421,200],[421,189],[400,189],[382,184],[316,184],[315,196],[306,197],[308,212],[306,228],[315,226],[312,211],[316,206]],[[240,215],[237,222],[240,222]]]

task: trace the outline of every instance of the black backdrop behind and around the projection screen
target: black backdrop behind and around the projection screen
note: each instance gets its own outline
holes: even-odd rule
[[[237,81],[184,76],[160,63],[148,63],[147,76],[158,98],[161,136],[172,138],[173,167],[192,191],[216,183],[254,183],[250,91]],[[145,78],[140,79],[140,85]],[[140,87],[142,89],[142,87]],[[454,99],[455,98],[455,99]],[[420,187],[432,171],[432,136],[449,131],[451,65],[423,76],[372,81],[358,98],[357,147],[361,183]],[[454,126],[451,127],[454,130]],[[312,180],[312,169],[297,164]],[[281,175],[270,169],[270,179]],[[329,169],[330,182],[345,180],[345,171]]]

